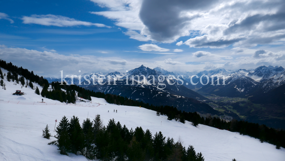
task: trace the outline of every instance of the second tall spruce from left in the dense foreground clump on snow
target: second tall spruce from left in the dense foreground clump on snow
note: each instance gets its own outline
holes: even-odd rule
[[[68,134],[71,142],[70,152],[77,155],[77,152],[82,152],[82,149],[84,148],[84,136],[79,119],[75,116],[72,116],[70,119]]]

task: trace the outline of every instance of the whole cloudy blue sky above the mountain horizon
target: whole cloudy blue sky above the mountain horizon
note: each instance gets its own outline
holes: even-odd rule
[[[0,0],[0,59],[38,75],[285,67],[283,0]]]

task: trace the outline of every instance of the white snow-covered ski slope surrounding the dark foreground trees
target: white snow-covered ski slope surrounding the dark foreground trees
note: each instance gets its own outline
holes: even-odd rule
[[[2,70],[3,71],[3,70]],[[4,72],[7,75],[7,72]],[[42,97],[34,93],[30,87],[13,85],[13,82],[4,80],[7,90],[0,88],[0,100],[18,100],[26,102],[40,102]],[[19,88],[20,87],[20,88]],[[38,86],[40,88],[40,86]],[[12,95],[16,89],[21,89],[26,95]],[[40,88],[41,90],[41,88]],[[19,98],[21,98],[19,100]],[[45,102],[59,102],[44,98]],[[133,106],[118,106],[108,104],[102,98],[92,97],[92,104],[100,103],[98,107],[79,107],[61,105],[22,105],[0,102],[0,160],[87,160],[84,156],[59,154],[56,145],[47,145],[50,140],[42,137],[42,130],[48,124],[52,135],[55,120],[58,122],[65,115],[69,120],[75,115],[83,120],[101,115],[103,123],[114,118],[126,125],[129,129],[141,126],[144,130],[150,129],[152,134],[161,131],[166,137],[182,138],[184,146],[193,145],[196,152],[202,152],[206,161],[284,161],[285,149],[276,149],[274,145],[260,143],[258,139],[239,135],[236,132],[219,130],[217,128],[200,125],[194,127],[191,122],[185,124],[175,120],[167,120],[167,116],[156,116],[156,112]],[[80,104],[84,104],[80,102]],[[90,104],[87,102],[86,104]],[[109,110],[109,112],[108,112]],[[113,112],[118,110],[118,112]],[[58,125],[57,122],[57,125]]]

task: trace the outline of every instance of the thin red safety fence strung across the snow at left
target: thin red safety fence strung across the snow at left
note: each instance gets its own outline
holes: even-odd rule
[[[90,104],[66,104],[66,103],[48,103],[48,102],[21,102],[21,101],[4,101],[0,100],[0,103],[12,103],[12,104],[25,104],[25,105],[63,105],[63,106],[81,106],[81,107],[98,107],[100,104],[90,105]]]

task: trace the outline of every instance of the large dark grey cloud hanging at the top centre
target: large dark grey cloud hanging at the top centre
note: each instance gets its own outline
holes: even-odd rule
[[[212,5],[210,0],[144,0],[140,10],[140,18],[156,41],[168,41],[180,37],[182,29],[191,19],[199,17],[180,17],[183,10],[203,9]],[[177,38],[178,38],[177,37]]]

